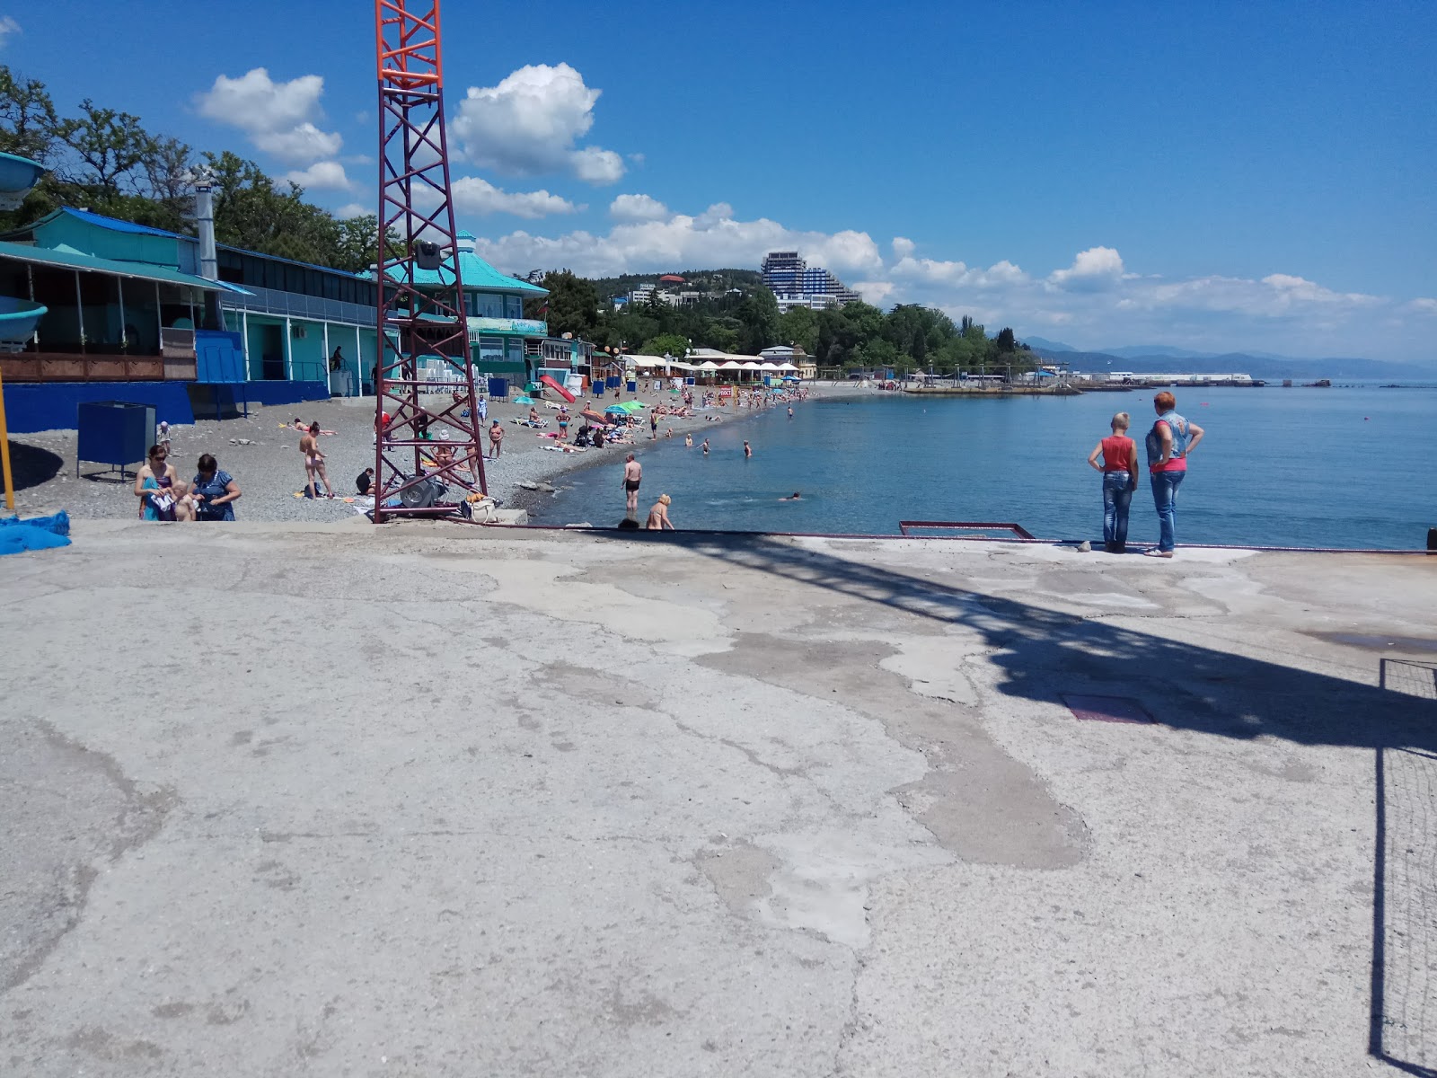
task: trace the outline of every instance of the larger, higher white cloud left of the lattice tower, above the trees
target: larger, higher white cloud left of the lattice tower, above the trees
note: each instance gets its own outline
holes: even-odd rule
[[[217,76],[214,86],[195,95],[195,105],[201,116],[239,128],[266,154],[303,165],[332,158],[343,145],[339,132],[315,125],[323,93],[319,75],[274,82],[269,70],[254,68],[237,79]]]

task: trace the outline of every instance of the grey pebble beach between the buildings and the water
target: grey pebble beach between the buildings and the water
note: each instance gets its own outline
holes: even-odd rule
[[[867,394],[846,385],[812,387],[813,397]],[[628,394],[624,397],[628,400]],[[638,400],[652,404],[668,401],[668,392],[638,394]],[[595,398],[612,402],[612,397]],[[579,405],[583,398],[579,400]],[[555,430],[553,410],[540,407],[550,418],[549,430]],[[605,446],[585,453],[545,451],[553,440],[539,437],[537,431],[517,427],[512,418],[527,415],[529,407],[519,404],[490,402],[489,418],[504,424],[504,451],[499,460],[486,460],[484,471],[489,492],[504,507],[527,507],[549,497],[546,493],[525,490],[519,483],[552,482],[558,476],[601,463],[618,463],[631,448],[642,454],[655,443],[648,438],[648,425],[635,431],[634,446]],[[696,418],[662,417],[660,440],[673,427],[674,437],[685,431],[706,428],[710,423],[743,420],[754,413],[747,410],[714,408],[700,413]],[[713,417],[713,418],[706,418]],[[305,467],[299,456],[300,433],[285,424],[293,420],[306,424],[318,420],[332,436],[319,440],[329,464],[329,482],[335,487],[335,500],[296,497],[305,489]],[[241,441],[249,444],[240,444]],[[139,512],[134,494],[132,463],[128,479],[93,461],[80,464],[75,474],[76,433],[73,430],[19,434],[10,438],[10,456],[16,479],[16,510],[20,516],[39,516],[66,510],[72,517],[132,517]],[[213,453],[220,467],[234,476],[241,497],[234,506],[236,517],[243,520],[341,520],[352,516],[356,506],[341,500],[355,494],[355,477],[374,466],[374,398],[349,397],[306,404],[285,404],[273,407],[250,407],[247,418],[200,420],[188,427],[171,427],[170,443],[172,460],[180,477],[194,476],[195,461],[201,453]],[[365,503],[365,507],[368,503]]]

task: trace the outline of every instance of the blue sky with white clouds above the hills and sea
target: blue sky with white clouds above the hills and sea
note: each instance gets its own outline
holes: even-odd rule
[[[63,109],[374,206],[368,3],[10,19]],[[444,29],[456,200],[502,269],[798,246],[1078,346],[1437,362],[1437,4],[451,0]]]

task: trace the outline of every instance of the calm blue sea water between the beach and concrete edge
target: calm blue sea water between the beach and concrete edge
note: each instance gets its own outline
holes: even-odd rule
[[[1178,411],[1207,431],[1178,494],[1180,543],[1413,549],[1437,526],[1437,388],[1175,392]],[[1040,538],[1101,539],[1088,453],[1125,410],[1142,460],[1151,398],[875,392],[796,404],[792,420],[780,407],[696,431],[693,448],[675,436],[641,454],[641,519],[667,492],[678,528],[885,533],[900,520],[1013,520]],[[615,457],[560,480],[539,519],[616,523],[621,467]],[[800,502],[779,500],[795,490]],[[1128,538],[1158,538],[1145,477]]]

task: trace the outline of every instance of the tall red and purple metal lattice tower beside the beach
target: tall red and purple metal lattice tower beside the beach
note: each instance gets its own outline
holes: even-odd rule
[[[375,430],[381,430],[381,414],[389,414],[375,446],[374,520],[468,516],[464,499],[486,493],[487,486],[450,198],[440,6],[438,0],[375,0],[374,11],[379,60]],[[438,286],[415,287],[415,267],[437,270]],[[433,463],[425,464],[425,457]],[[438,496],[440,483],[450,493]],[[385,507],[392,499],[399,505]]]

